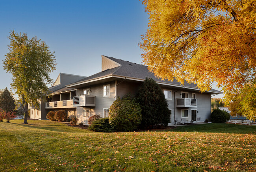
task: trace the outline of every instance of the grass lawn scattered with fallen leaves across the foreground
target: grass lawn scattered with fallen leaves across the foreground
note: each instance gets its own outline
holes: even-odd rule
[[[0,171],[256,171],[256,126],[96,133],[22,122],[0,122]]]

